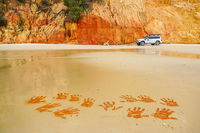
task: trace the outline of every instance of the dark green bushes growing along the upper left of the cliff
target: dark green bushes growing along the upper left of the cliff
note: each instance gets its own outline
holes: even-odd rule
[[[26,3],[26,0],[16,0],[16,1],[21,4]],[[69,22],[78,22],[87,11],[92,9],[92,3],[103,2],[103,0],[53,0],[53,1],[41,0],[40,3],[37,4],[38,9],[42,12],[48,12],[51,10],[51,6],[54,3],[61,2],[61,1],[63,1],[64,5],[67,7],[65,11],[65,15],[66,15],[67,21]],[[1,24],[0,25],[1,26],[7,25],[7,21],[3,16],[4,15],[3,12],[4,12],[4,9],[6,9],[5,7],[7,6],[8,3],[9,3],[9,0],[0,0],[0,8],[1,8],[1,14],[0,14]]]

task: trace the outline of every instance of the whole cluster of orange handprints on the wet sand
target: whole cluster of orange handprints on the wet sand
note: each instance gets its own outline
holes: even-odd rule
[[[68,100],[71,102],[78,102],[80,101],[80,95],[69,95],[68,93],[58,93],[56,95],[56,97],[53,97],[56,100]],[[121,99],[121,103],[123,102],[145,102],[145,103],[153,103],[156,102],[155,100],[153,100],[152,98],[150,98],[149,96],[145,96],[145,95],[140,95],[138,97],[133,97],[131,95],[122,95],[119,97]],[[28,104],[38,104],[38,103],[46,103],[46,96],[36,96],[36,97],[32,97],[30,98],[27,103]],[[161,98],[160,99],[160,103],[166,106],[171,106],[171,107],[176,107],[179,106],[177,104],[176,101],[174,101],[173,99],[169,99],[169,98]],[[80,104],[81,107],[86,107],[86,108],[90,108],[94,105],[95,103],[95,99],[93,98],[84,98],[82,103]],[[36,108],[37,111],[39,112],[52,112],[56,117],[60,117],[63,119],[66,119],[67,115],[78,115],[80,113],[80,110],[78,108],[73,108],[73,107],[69,107],[69,108],[65,108],[65,109],[59,109],[56,111],[52,111],[53,108],[56,107],[60,107],[62,106],[60,103],[47,103],[43,106],[40,106],[38,108]],[[123,106],[117,105],[116,102],[114,101],[105,101],[103,102],[101,105],[98,105],[99,107],[102,107],[105,111],[108,110],[119,110],[122,109]],[[152,115],[144,115],[145,108],[141,108],[141,107],[133,107],[133,108],[128,108],[127,109],[127,117],[132,117],[132,118],[143,118],[143,117],[149,117],[149,116],[153,116],[155,118],[159,118],[159,119],[177,119],[175,117],[170,117],[170,115],[172,115],[172,113],[174,113],[175,111],[172,111],[170,109],[167,108],[157,108],[155,110],[155,112]]]

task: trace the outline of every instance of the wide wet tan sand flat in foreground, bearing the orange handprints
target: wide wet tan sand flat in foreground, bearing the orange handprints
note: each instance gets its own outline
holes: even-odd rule
[[[144,49],[1,51],[0,132],[198,133],[199,59]]]

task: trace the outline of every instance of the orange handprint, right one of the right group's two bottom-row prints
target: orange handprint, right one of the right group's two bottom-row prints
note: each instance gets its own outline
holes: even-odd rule
[[[171,111],[170,109],[159,109],[157,108],[156,113],[153,114],[154,117],[165,120],[165,119],[177,119],[175,117],[169,117],[174,111]]]

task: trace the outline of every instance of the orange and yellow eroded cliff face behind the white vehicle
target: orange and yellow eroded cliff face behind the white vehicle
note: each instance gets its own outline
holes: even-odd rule
[[[161,34],[166,43],[200,43],[198,0],[105,0],[77,23],[66,21],[63,2],[45,12],[37,0],[8,6],[1,43],[127,44],[146,34]]]

